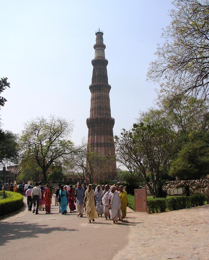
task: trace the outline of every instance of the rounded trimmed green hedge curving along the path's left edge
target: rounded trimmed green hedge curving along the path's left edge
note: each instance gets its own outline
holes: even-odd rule
[[[5,192],[7,198],[0,200],[0,216],[7,215],[23,207],[23,195],[16,192]],[[0,196],[3,191],[0,191]]]

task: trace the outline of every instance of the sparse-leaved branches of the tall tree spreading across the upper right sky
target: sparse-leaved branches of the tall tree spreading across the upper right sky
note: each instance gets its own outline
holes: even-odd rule
[[[170,25],[163,29],[165,43],[158,45],[148,79],[161,91],[173,93],[173,102],[184,94],[208,96],[208,0],[174,0]]]

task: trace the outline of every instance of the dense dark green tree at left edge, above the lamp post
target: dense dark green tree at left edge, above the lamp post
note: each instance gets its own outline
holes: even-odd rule
[[[11,131],[0,129],[0,164],[18,163],[18,136]]]

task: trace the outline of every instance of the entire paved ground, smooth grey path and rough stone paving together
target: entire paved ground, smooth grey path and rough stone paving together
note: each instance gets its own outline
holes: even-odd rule
[[[24,198],[26,201],[26,198]],[[54,201],[54,200],[53,200]],[[125,223],[84,214],[27,211],[0,221],[0,251],[7,259],[209,259],[209,205],[160,214],[128,209]],[[29,255],[29,257],[28,257]]]

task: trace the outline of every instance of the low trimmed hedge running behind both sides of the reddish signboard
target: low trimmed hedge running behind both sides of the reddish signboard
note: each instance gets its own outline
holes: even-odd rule
[[[134,196],[128,194],[129,207],[135,210]],[[186,196],[167,196],[166,198],[147,198],[147,208],[149,213],[164,212],[166,210],[186,209],[204,205],[206,196],[204,194],[194,194]]]

